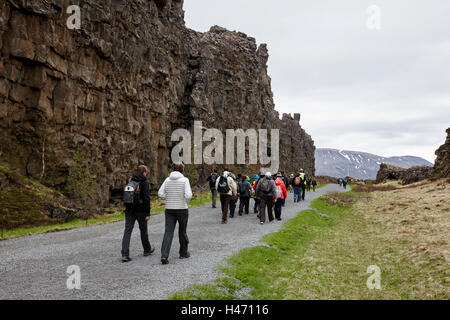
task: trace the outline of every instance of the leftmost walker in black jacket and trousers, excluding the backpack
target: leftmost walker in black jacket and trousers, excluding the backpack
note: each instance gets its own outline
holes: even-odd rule
[[[127,205],[125,208],[125,231],[122,239],[122,262],[131,261],[130,240],[136,220],[141,231],[141,241],[144,248],[144,256],[151,255],[155,248],[150,245],[148,239],[147,222],[150,220],[150,183],[147,180],[149,170],[141,165],[137,168],[137,173],[131,178],[132,181],[139,182],[139,204]]]

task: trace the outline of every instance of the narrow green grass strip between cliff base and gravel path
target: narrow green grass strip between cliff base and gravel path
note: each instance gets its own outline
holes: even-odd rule
[[[189,207],[201,206],[206,203],[211,202],[211,193],[210,192],[196,192],[194,194],[193,200],[189,203]],[[151,214],[156,215],[164,212],[164,201],[161,199],[155,199],[152,201],[152,210]],[[102,225],[107,223],[114,223],[118,221],[122,221],[125,218],[125,214],[119,210],[117,210],[113,214],[106,214],[104,216],[99,216],[95,218],[90,218],[88,220],[84,219],[75,219],[70,222],[60,223],[60,224],[50,224],[32,228],[16,228],[13,230],[5,230],[3,233],[0,233],[0,241],[7,240],[32,234],[40,234],[40,233],[50,233],[50,232],[59,232],[65,230],[71,230],[75,228],[82,228],[86,226],[93,225]]]

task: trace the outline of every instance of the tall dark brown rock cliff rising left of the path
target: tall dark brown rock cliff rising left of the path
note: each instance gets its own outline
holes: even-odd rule
[[[266,45],[217,26],[186,28],[182,0],[76,2],[0,1],[1,162],[62,189],[82,150],[106,206],[138,164],[159,185],[172,131],[201,120],[280,129],[281,169],[314,174],[300,115],[275,110]],[[72,4],[81,7],[79,30],[66,26]],[[201,182],[209,169],[192,172]]]

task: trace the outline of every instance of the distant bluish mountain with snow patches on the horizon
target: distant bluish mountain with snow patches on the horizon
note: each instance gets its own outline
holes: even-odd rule
[[[375,154],[337,149],[316,149],[316,175],[375,179],[381,163],[401,168],[433,166],[429,161],[413,156],[381,157]]]

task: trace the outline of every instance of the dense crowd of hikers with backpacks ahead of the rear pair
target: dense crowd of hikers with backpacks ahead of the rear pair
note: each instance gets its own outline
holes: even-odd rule
[[[212,193],[213,208],[216,208],[217,197],[220,197],[222,224],[228,223],[228,215],[234,218],[238,201],[238,214],[240,216],[244,212],[249,214],[251,198],[254,199],[253,212],[257,214],[260,224],[266,223],[266,218],[269,222],[275,219],[281,220],[288,190],[293,190],[294,202],[300,202],[305,200],[306,190],[311,190],[312,186],[315,191],[317,186],[317,181],[308,179],[303,169],[300,169],[296,175],[292,174],[290,179],[284,172],[274,175],[267,172],[261,176],[254,174],[252,178],[242,174],[235,176],[229,168],[225,168],[222,174],[219,174],[217,169],[213,169],[207,180]]]

